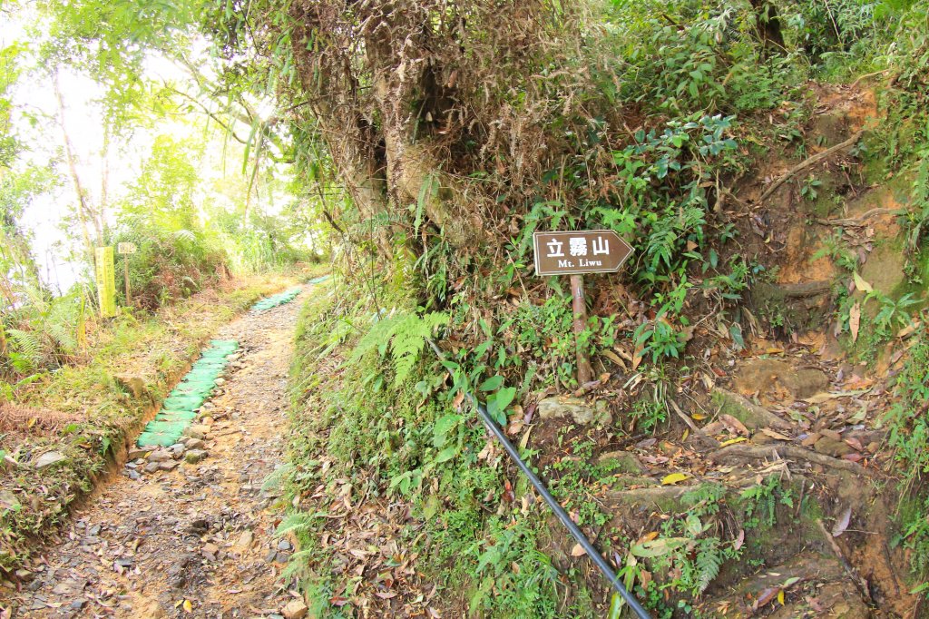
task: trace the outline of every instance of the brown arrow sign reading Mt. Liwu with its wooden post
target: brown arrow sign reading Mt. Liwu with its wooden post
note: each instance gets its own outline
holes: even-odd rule
[[[571,309],[574,312],[574,345],[577,350],[578,384],[594,379],[594,368],[578,340],[587,327],[587,300],[583,293],[584,273],[615,273],[633,254],[613,230],[578,230],[573,232],[536,232],[535,274],[546,277],[569,275]]]

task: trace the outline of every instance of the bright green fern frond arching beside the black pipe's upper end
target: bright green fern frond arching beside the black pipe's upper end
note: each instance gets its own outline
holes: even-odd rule
[[[425,339],[432,336],[438,326],[449,323],[448,314],[431,312],[419,316],[399,312],[374,323],[371,330],[361,337],[352,352],[351,361],[376,349],[381,357],[389,353],[394,363],[394,383],[400,385],[412,373],[413,366],[425,348]]]

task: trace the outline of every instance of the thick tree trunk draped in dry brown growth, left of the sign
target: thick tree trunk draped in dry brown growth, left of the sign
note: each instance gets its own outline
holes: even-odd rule
[[[539,177],[550,150],[533,121],[564,102],[535,83],[558,80],[536,73],[553,33],[569,30],[564,9],[304,0],[290,17],[307,124],[381,252],[412,241],[420,223],[456,248],[489,238],[495,196],[474,178],[499,177],[503,193]],[[564,40],[557,45],[564,51]]]

